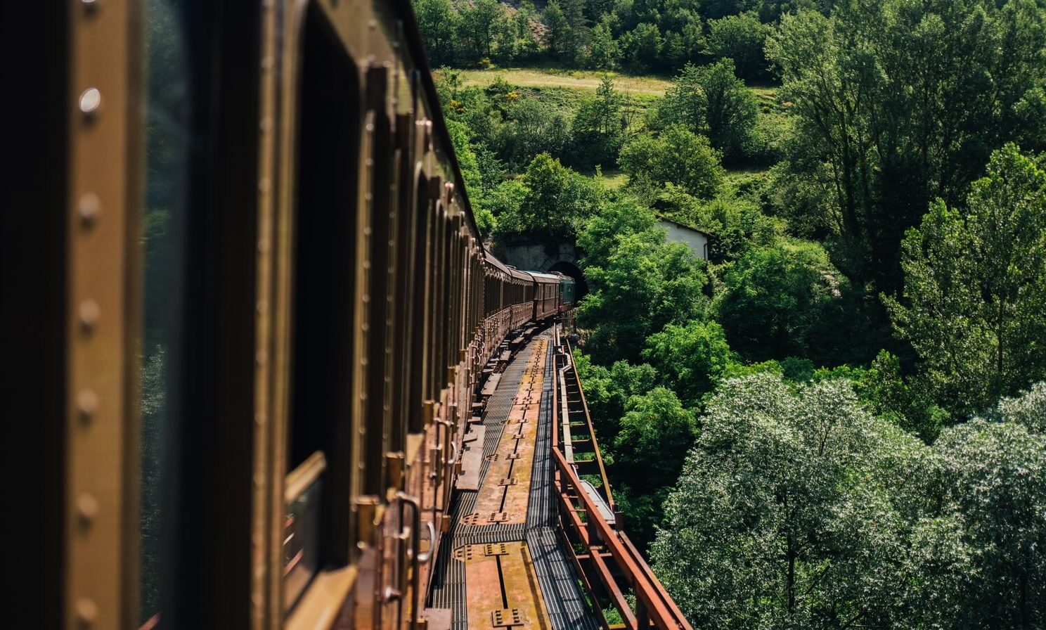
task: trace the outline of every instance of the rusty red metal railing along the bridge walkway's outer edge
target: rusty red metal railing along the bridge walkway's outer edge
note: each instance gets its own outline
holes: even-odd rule
[[[610,486],[606,481],[606,471],[581,381],[574,370],[573,355],[568,343],[561,344],[560,350],[563,352],[556,353],[554,370],[556,383],[553,387],[553,426],[556,430],[553,431],[552,446],[560,531],[566,538],[574,566],[589,592],[593,607],[607,628],[692,630],[675,601],[620,528],[621,519],[618,518],[616,509],[612,508],[613,497],[610,496]],[[573,376],[575,387],[567,387],[568,374]],[[591,490],[593,486],[583,479],[582,475],[585,473],[579,472],[581,463],[573,452],[569,431],[572,424],[581,423],[571,421],[571,409],[581,409],[584,413],[591,448],[598,463],[597,474],[604,480],[602,494]],[[560,438],[561,433],[563,440]],[[596,470],[591,472],[596,473]],[[629,592],[635,595],[634,609],[626,597]],[[620,623],[615,620],[612,624],[607,618],[605,605],[617,610]]]

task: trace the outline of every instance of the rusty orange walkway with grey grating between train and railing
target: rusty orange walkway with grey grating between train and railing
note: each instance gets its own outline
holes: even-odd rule
[[[542,346],[544,357],[533,356],[535,346]],[[433,571],[432,588],[429,593],[428,607],[449,609],[451,611],[451,628],[467,630],[475,627],[505,628],[546,628],[552,630],[568,630],[581,628],[595,630],[599,627],[594,613],[590,610],[586,597],[578,586],[578,577],[572,565],[570,555],[564,548],[564,542],[556,532],[556,503],[552,483],[553,462],[551,458],[550,431],[552,425],[552,378],[553,361],[551,343],[547,335],[536,336],[508,363],[501,375],[500,382],[494,395],[486,404],[483,415],[483,464],[480,471],[480,491],[459,491],[451,505],[451,527],[446,534],[445,543],[440,545],[439,556]],[[537,414],[532,414],[530,406],[518,401],[523,396],[527,379],[524,373],[528,366],[531,369],[530,379],[541,377],[541,396]],[[535,370],[538,367],[540,370]],[[531,395],[532,396],[532,395]],[[515,411],[514,411],[515,407]],[[486,477],[491,472],[491,459],[498,453],[499,444],[505,449],[502,435],[506,427],[519,426],[523,433],[524,420],[519,425],[508,424],[510,414],[519,419],[528,413],[537,418],[537,434],[532,437],[532,466],[529,471],[529,494],[526,497],[526,515],[524,519],[506,516],[517,522],[478,523],[475,520],[477,499],[483,491]],[[509,440],[514,436],[509,435]],[[517,441],[519,444],[521,441]],[[516,447],[519,448],[518,446]],[[499,468],[503,469],[503,466]],[[523,471],[526,475],[526,471]],[[499,473],[500,476],[500,473]],[[490,488],[490,486],[487,487]],[[507,492],[505,493],[507,495]],[[517,493],[518,494],[518,493]],[[472,516],[471,522],[464,522]],[[485,547],[476,546],[485,545]],[[495,545],[492,547],[491,545]],[[497,555],[497,573],[493,572],[493,564],[488,567],[482,554]],[[526,573],[526,576],[502,575]],[[527,582],[527,577],[537,578],[540,592]],[[467,584],[467,573],[471,575],[471,584]],[[488,613],[469,609],[469,602],[485,602],[490,597],[492,584],[497,586],[500,581],[502,593],[511,591],[528,606],[537,606],[537,614],[522,612],[515,607],[504,608]],[[528,592],[533,590],[535,592]],[[510,605],[502,594],[505,605]],[[488,606],[486,606],[488,607]],[[487,616],[487,615],[491,616]],[[517,614],[514,620],[513,614]],[[532,618],[531,618],[532,617]],[[471,622],[471,623],[470,623]]]

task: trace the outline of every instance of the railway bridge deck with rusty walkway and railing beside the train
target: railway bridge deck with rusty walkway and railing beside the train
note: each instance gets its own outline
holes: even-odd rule
[[[689,628],[617,526],[562,327],[510,337],[464,432],[429,627]]]

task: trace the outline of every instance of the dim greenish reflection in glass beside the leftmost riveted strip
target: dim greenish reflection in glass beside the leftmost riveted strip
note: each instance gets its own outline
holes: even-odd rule
[[[153,625],[160,609],[161,480],[164,434],[168,430],[172,296],[179,248],[175,226],[181,211],[184,176],[184,45],[175,0],[147,0],[147,100],[145,103],[145,194],[142,217],[144,256],[140,345],[140,592],[139,623]]]

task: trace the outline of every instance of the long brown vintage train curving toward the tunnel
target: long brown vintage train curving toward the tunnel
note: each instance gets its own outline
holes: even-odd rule
[[[17,4],[23,626],[426,628],[480,373],[575,286],[483,244],[409,0]]]

